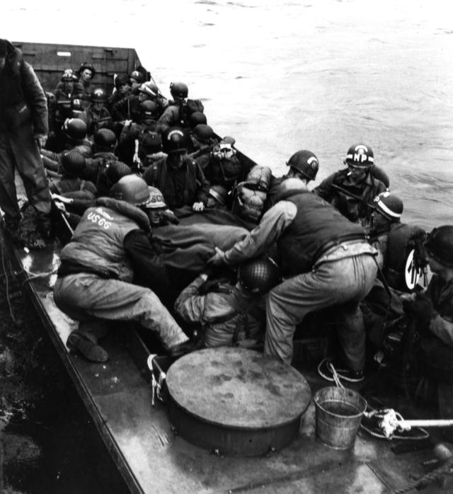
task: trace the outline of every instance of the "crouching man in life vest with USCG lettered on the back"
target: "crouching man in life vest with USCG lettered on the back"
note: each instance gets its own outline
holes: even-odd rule
[[[88,360],[105,362],[107,352],[89,323],[136,321],[159,336],[173,357],[193,350],[192,344],[156,293],[132,284],[134,269],[159,286],[166,279],[163,265],[148,242],[134,249],[133,239],[151,231],[146,213],[151,200],[147,184],[129,175],[111,189],[113,197],[101,197],[84,213],[71,241],[60,254],[62,261],[54,287],[55,304],[76,321],[79,330],[68,338],[70,349]],[[152,262],[152,260],[156,262]],[[145,272],[146,271],[146,272]],[[87,324],[88,323],[88,324]]]

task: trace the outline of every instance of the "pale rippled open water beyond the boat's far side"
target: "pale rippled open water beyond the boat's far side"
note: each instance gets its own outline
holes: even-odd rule
[[[11,40],[135,47],[164,93],[186,81],[214,129],[277,175],[304,147],[321,163],[316,185],[364,141],[407,222],[450,221],[448,2],[18,0],[1,9]]]

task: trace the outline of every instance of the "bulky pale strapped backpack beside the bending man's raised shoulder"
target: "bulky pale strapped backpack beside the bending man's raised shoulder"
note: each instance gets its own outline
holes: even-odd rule
[[[249,222],[258,223],[264,212],[272,171],[268,166],[253,166],[246,180],[234,191],[231,211]]]

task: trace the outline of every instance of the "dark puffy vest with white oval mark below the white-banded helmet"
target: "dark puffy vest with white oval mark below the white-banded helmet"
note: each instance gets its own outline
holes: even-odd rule
[[[419,226],[401,224],[389,232],[384,277],[391,288],[412,292],[423,272],[423,241]]]

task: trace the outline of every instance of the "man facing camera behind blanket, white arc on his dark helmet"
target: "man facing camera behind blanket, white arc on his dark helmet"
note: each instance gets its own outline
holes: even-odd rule
[[[167,156],[147,168],[144,180],[162,191],[171,209],[190,206],[195,212],[202,211],[210,183],[198,163],[187,154],[187,133],[180,127],[172,127],[164,133],[162,142]]]

